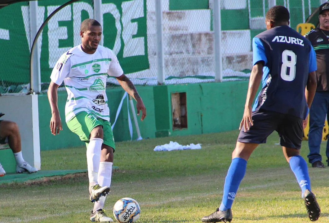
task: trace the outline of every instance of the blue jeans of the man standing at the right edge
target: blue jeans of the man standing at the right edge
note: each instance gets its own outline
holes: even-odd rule
[[[310,153],[307,156],[309,163],[322,162],[320,145],[326,116],[329,117],[329,91],[316,92],[310,109],[310,130],[308,135]],[[329,141],[327,141],[326,155],[329,159]]]

